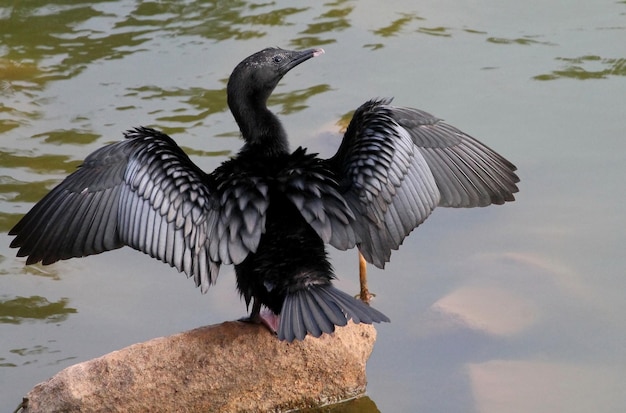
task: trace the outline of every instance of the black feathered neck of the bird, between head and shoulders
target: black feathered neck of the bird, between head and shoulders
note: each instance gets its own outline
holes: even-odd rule
[[[230,110],[246,142],[240,153],[272,157],[289,152],[285,129],[265,103],[243,102],[231,105]]]

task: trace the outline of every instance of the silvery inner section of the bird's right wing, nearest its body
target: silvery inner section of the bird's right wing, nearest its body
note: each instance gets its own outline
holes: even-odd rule
[[[386,102],[369,101],[357,109],[328,164],[357,217],[359,250],[378,267],[439,204],[426,160]]]

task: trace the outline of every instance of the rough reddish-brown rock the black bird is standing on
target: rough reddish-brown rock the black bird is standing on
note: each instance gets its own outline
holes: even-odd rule
[[[28,393],[23,412],[278,412],[365,392],[376,340],[353,324],[304,341],[226,322],[70,366]]]

